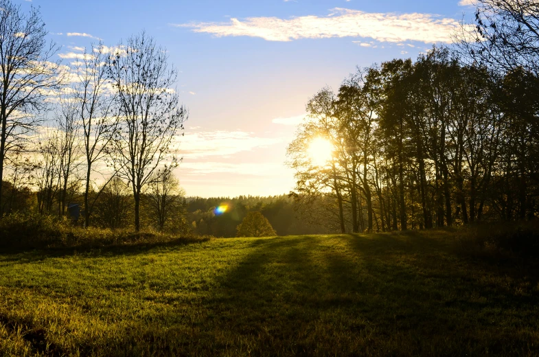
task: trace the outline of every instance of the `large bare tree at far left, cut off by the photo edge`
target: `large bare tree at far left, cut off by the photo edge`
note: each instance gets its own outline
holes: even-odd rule
[[[46,45],[45,23],[38,9],[21,11],[11,0],[0,0],[0,182],[10,151],[21,150],[21,142],[45,111],[49,92],[61,87],[65,76],[59,62],[51,62],[58,51]],[[0,207],[2,192],[0,185]],[[1,218],[1,214],[0,214]]]

